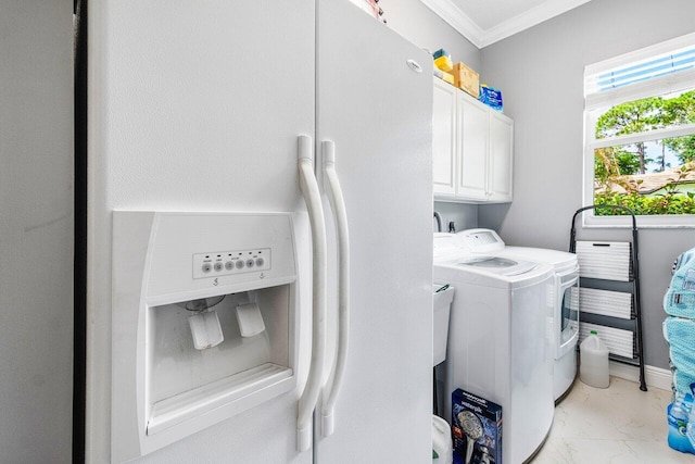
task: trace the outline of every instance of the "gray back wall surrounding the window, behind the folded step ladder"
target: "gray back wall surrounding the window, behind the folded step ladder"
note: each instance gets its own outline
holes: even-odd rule
[[[693,33],[693,0],[593,0],[483,49],[483,73],[502,89],[515,121],[515,191],[509,205],[480,206],[480,226],[497,229],[509,244],[566,250],[571,216],[582,206],[584,65]],[[630,238],[628,230],[579,234]],[[661,298],[673,259],[694,246],[693,229],[640,231],[648,365],[668,367]]]

